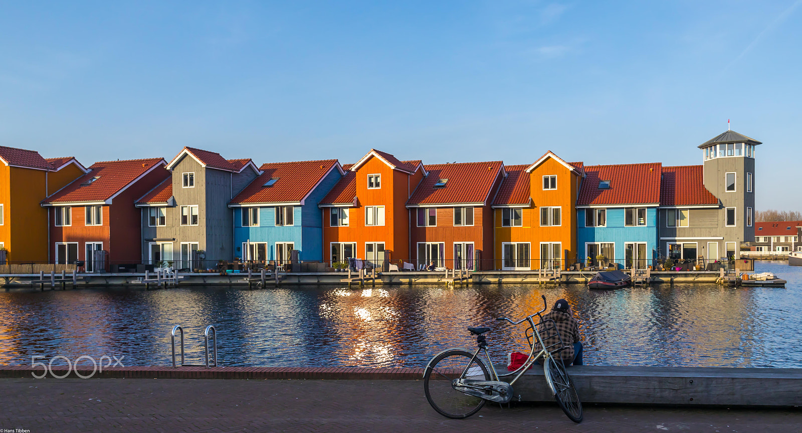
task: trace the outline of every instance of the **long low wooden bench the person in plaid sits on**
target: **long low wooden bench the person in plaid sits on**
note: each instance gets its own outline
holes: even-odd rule
[[[568,373],[583,403],[802,406],[802,369],[573,366]],[[537,364],[512,388],[516,400],[554,401]]]

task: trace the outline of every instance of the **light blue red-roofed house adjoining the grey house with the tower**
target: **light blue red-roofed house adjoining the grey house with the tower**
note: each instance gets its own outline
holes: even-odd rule
[[[577,242],[585,264],[645,269],[658,249],[660,163],[585,165],[577,198]]]

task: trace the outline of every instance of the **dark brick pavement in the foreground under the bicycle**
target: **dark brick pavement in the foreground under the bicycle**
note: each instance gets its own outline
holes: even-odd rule
[[[0,431],[802,431],[798,410],[585,407],[574,424],[553,405],[487,405],[445,419],[422,381],[0,379]]]

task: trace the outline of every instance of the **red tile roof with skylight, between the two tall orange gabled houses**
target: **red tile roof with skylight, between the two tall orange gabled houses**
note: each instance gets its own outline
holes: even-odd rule
[[[501,161],[427,165],[429,175],[407,204],[484,203],[503,165]],[[446,186],[435,188],[440,179],[448,179]]]

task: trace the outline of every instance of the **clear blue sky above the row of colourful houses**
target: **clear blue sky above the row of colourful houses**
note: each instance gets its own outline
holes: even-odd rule
[[[94,161],[702,163],[802,210],[802,0],[0,1],[0,145]]]

